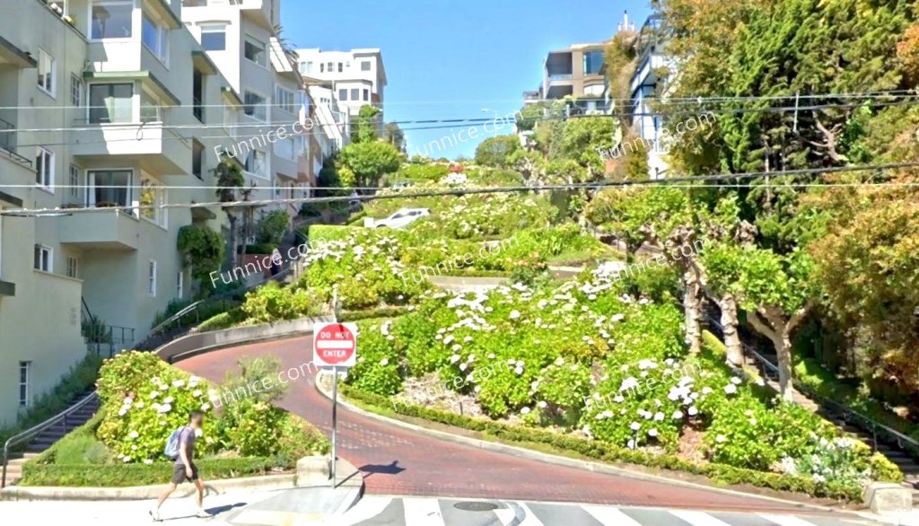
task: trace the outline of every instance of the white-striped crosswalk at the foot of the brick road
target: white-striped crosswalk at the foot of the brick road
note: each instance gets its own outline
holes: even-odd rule
[[[830,526],[873,524],[851,515],[776,515],[685,509],[365,496],[335,526]]]

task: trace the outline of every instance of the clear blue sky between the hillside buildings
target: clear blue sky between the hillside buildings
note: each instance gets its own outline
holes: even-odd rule
[[[281,23],[295,47],[380,48],[387,121],[460,119],[520,109],[523,92],[542,80],[548,51],[607,40],[627,9],[637,27],[651,12],[647,0],[281,0]],[[400,126],[410,154],[451,133]],[[431,154],[471,156],[482,139],[507,131],[480,127],[476,140]]]

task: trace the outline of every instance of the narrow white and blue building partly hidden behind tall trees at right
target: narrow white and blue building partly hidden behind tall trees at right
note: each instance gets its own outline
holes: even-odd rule
[[[661,69],[675,69],[675,61],[666,54],[662,22],[663,17],[652,15],[641,25],[635,40],[638,65],[630,80],[632,125],[639,137],[644,140],[643,143],[648,146],[649,177],[651,178],[664,177],[669,168],[665,145],[659,141],[664,123],[661,116],[654,115],[654,110],[648,100],[650,97],[661,96],[659,93]]]

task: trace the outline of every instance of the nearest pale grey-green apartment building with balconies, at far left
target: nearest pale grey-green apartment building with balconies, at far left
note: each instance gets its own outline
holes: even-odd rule
[[[244,108],[182,4],[4,2],[0,209],[57,212],[0,217],[0,426],[85,355],[87,313],[141,340],[191,292],[179,229],[225,222],[161,207],[216,200],[213,149]]]

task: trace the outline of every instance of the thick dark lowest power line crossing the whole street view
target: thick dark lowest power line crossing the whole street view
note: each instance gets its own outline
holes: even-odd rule
[[[818,175],[825,176],[834,173],[843,173],[843,172],[858,172],[858,171],[868,171],[868,170],[888,170],[894,168],[905,168],[905,167],[916,167],[919,166],[919,162],[915,163],[896,163],[896,164],[887,164],[887,165],[868,165],[868,166],[839,166],[839,167],[830,167],[830,168],[801,168],[797,170],[785,170],[781,172],[745,172],[742,174],[720,174],[713,176],[691,176],[691,177],[675,177],[670,179],[656,179],[656,180],[641,180],[641,181],[596,181],[596,182],[587,182],[587,183],[573,183],[573,184],[564,184],[564,185],[547,185],[540,187],[529,187],[529,186],[517,186],[517,187],[487,187],[487,188],[476,188],[476,189],[439,189],[431,190],[424,192],[398,192],[393,194],[374,194],[374,195],[358,195],[358,196],[329,196],[321,198],[287,198],[287,199],[272,199],[272,200],[235,200],[235,201],[214,201],[214,202],[201,202],[201,203],[167,203],[162,205],[132,205],[132,206],[118,206],[118,207],[78,207],[78,208],[53,208],[53,209],[6,209],[0,210],[0,215],[12,215],[17,217],[23,216],[61,216],[62,214],[70,215],[73,213],[80,212],[127,212],[133,215],[132,211],[141,211],[141,210],[154,210],[154,209],[193,209],[193,208],[228,208],[228,207],[262,207],[273,204],[296,204],[296,203],[305,203],[305,202],[335,202],[335,201],[344,201],[344,200],[384,200],[384,199],[414,199],[419,197],[438,197],[438,196],[460,196],[460,195],[475,195],[475,194],[492,194],[492,193],[507,193],[507,192],[525,192],[525,191],[547,191],[547,190],[573,190],[573,189],[603,189],[603,188],[659,188],[665,187],[668,185],[674,185],[675,188],[677,183],[698,183],[698,182],[709,182],[709,181],[723,181],[730,179],[749,179],[754,177],[789,177],[789,176],[801,176],[801,175]],[[842,183],[834,183],[836,185],[842,186]],[[852,186],[879,186],[879,183],[852,183]],[[698,188],[696,185],[686,185],[690,187]],[[715,185],[709,185],[715,186]],[[738,184],[726,184],[721,185],[723,188],[737,188]],[[776,183],[772,185],[775,187],[786,186],[785,184]],[[814,186],[827,186],[827,185],[814,185]],[[902,186],[902,187],[912,187],[919,186],[915,183],[889,183],[885,186]],[[256,187],[257,189],[257,187]],[[377,189],[386,189],[386,188],[377,188]],[[322,190],[327,191],[348,191],[349,189],[333,189],[333,188],[324,188]]]

